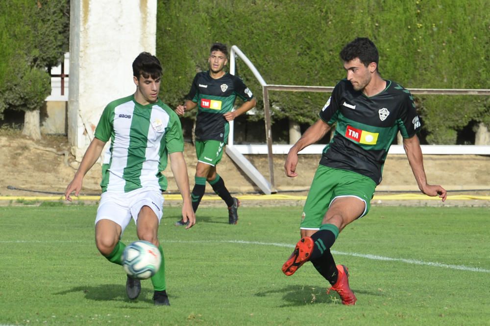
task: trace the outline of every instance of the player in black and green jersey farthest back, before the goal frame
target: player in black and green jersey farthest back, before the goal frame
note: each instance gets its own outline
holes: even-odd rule
[[[175,112],[184,116],[186,111],[197,107],[195,131],[197,165],[195,185],[191,193],[194,212],[197,211],[204,196],[207,181],[226,203],[228,223],[237,224],[240,201],[231,196],[216,171],[216,166],[221,161],[223,148],[228,141],[228,121],[252,109],[257,102],[242,79],[223,70],[228,63],[227,56],[228,50],[224,44],[215,43],[211,46],[208,58],[209,70],[196,73],[184,104],[177,106]],[[244,103],[232,111],[237,96]],[[185,221],[177,221],[175,225],[185,225]]]

